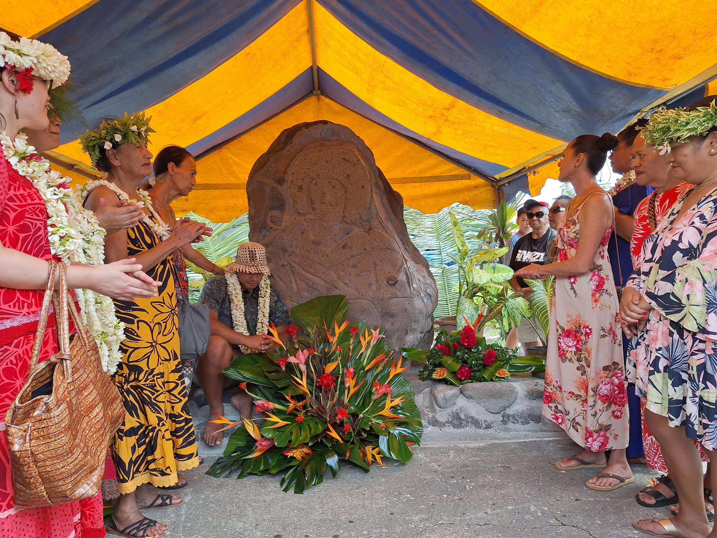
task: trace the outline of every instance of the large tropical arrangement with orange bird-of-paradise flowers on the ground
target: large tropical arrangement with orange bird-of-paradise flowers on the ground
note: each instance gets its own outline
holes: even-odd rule
[[[383,467],[383,458],[412,458],[411,445],[420,443],[423,428],[402,356],[394,354],[383,329],[349,324],[346,313],[346,296],[295,306],[291,316],[298,327],[287,331],[288,344],[270,327],[277,351],[242,355],[224,370],[265,416],[214,420],[238,428],[207,474],[244,478],[286,471],[284,491],[301,494],[323,482],[327,466],[336,477],[341,459],[368,473],[374,463]],[[298,336],[298,329],[304,334]]]

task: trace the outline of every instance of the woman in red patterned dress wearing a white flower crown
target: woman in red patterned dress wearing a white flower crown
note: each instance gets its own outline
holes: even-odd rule
[[[18,133],[47,128],[47,89],[65,83],[69,74],[67,58],[51,45],[0,32],[0,417],[27,379],[42,305],[38,290],[45,287],[47,261],[53,258],[40,190],[49,182],[39,181],[49,166]],[[123,300],[156,296],[159,284],[131,259],[98,267],[72,263],[67,277],[71,288]],[[56,352],[57,337],[46,331],[39,359]],[[0,537],[103,536],[100,496],[39,508],[15,506],[4,430],[0,422]]]

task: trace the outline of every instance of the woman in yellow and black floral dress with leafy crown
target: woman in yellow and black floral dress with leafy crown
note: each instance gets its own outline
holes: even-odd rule
[[[178,471],[199,465],[194,426],[179,358],[176,277],[172,253],[209,235],[199,222],[179,220],[172,227],[154,209],[149,195],[138,189],[151,174],[147,149],[153,133],[144,113],[105,120],[80,137],[92,165],[107,179],[88,181],[82,192],[85,207],[94,211],[100,199],[108,204],[134,200],[144,209],[134,227],[105,237],[105,258],[131,255],[148,275],[162,284],[151,301],[115,301],[115,313],[125,324],[120,344],[122,361],[113,375],[125,401],[125,421],[110,446],[115,461],[120,500],[107,531],[124,536],[161,536],[166,525],[144,517],[140,510],[178,506],[174,495],[152,494],[147,486],[174,486]]]

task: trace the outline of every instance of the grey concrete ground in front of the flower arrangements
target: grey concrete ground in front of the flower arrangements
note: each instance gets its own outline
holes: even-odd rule
[[[559,433],[445,440],[432,430],[407,465],[389,460],[364,474],[342,460],[337,478],[327,470],[303,495],[284,493],[279,476],[206,476],[221,450],[200,442],[206,463],[185,473],[189,486],[177,491],[184,504],[146,515],[166,522],[172,538],[636,537],[634,519],[669,516],[633,499],[652,476],[645,466],[633,466],[634,483],[607,493],[585,487],[594,469],[556,469],[579,451]]]

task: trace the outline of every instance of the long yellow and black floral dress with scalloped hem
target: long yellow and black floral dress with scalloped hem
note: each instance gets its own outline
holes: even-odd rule
[[[128,257],[156,247],[159,241],[146,222],[138,222],[127,230]],[[147,482],[171,486],[177,481],[177,471],[199,465],[179,359],[171,256],[146,273],[161,281],[158,297],[115,301],[117,317],[125,324],[122,362],[113,379],[127,415],[110,447],[120,494]]]

